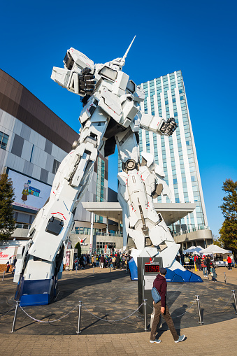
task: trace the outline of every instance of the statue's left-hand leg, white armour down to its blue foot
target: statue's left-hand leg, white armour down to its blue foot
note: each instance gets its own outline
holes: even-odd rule
[[[22,251],[14,276],[15,282],[20,281],[22,305],[48,304],[62,274],[64,241],[71,232],[76,206],[92,178],[106,129],[106,123],[97,129],[92,121],[85,123],[75,149],[60,164],[49,201],[38,211],[29,230],[31,241]]]

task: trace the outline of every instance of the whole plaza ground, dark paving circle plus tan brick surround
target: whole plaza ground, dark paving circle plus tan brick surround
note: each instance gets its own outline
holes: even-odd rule
[[[197,274],[202,276],[201,272]],[[49,306],[24,307],[33,318],[48,323],[37,322],[20,309],[13,334],[10,330],[14,311],[10,309],[15,306],[15,283],[8,274],[3,281],[0,279],[0,355],[225,355],[227,350],[235,355],[237,321],[231,290],[237,285],[237,269],[220,268],[217,275],[217,283],[207,278],[203,283],[168,283],[167,304],[178,333],[187,339],[174,343],[163,320],[159,329],[161,343],[157,345],[149,343],[150,332],[144,332],[143,315],[138,311],[125,320],[110,321],[126,318],[138,308],[137,282],[131,281],[126,271],[110,273],[109,269],[96,268],[93,273],[90,268],[65,272],[56,301]],[[199,325],[196,294],[203,325]],[[79,300],[86,309],[82,308],[82,332],[77,335]],[[149,309],[148,306],[148,313]],[[10,312],[5,314],[7,311]],[[59,318],[62,320],[53,322]]]

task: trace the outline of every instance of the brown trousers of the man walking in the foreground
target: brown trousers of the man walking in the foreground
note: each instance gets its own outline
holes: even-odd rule
[[[154,315],[154,320],[152,322],[152,330],[150,332],[150,340],[152,340],[152,341],[155,340],[155,336],[157,334],[157,325],[159,324],[159,318],[161,315],[161,301],[153,304],[153,306],[155,308],[155,315]],[[173,320],[169,313],[168,306],[166,306],[165,312],[164,312],[164,314],[162,314],[162,317],[164,318],[164,320],[166,320],[166,324],[168,325],[168,329],[170,329],[170,331],[171,331],[174,341],[177,341],[178,334],[177,334],[176,329],[173,325]]]

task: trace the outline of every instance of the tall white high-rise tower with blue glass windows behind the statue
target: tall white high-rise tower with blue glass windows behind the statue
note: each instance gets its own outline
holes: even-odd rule
[[[159,136],[144,129],[139,132],[140,155],[145,151],[155,156],[155,162],[164,169],[166,183],[173,193],[171,199],[158,197],[155,201],[196,203],[193,213],[171,227],[176,233],[180,232],[180,226],[182,231],[207,227],[199,164],[182,73],[175,71],[141,86],[145,91],[145,100],[141,103],[144,113],[159,115],[165,119],[175,118],[178,123],[178,129],[170,137]],[[119,162],[119,171],[121,169]]]

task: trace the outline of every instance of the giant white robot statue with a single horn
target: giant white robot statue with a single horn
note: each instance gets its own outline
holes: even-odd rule
[[[152,198],[159,194],[170,194],[164,172],[148,152],[142,152],[143,160],[139,162],[138,150],[141,127],[170,136],[177,124],[173,118],[166,121],[141,113],[143,90],[122,71],[127,52],[122,58],[94,64],[70,48],[64,58],[64,69],[52,69],[52,80],[80,95],[84,107],[79,117],[78,141],[60,164],[50,198],[31,225],[30,241],[17,255],[14,280],[20,280],[17,292],[22,305],[46,304],[55,293],[57,278],[62,275],[64,241],[71,232],[76,206],[92,178],[94,162],[99,152],[104,157],[113,154],[116,144],[123,169],[118,174],[118,198],[127,234],[137,248],[134,257],[144,253],[145,248],[152,255],[159,252],[164,266],[182,269],[174,262],[180,245],[175,244],[152,203]]]

